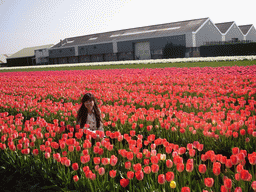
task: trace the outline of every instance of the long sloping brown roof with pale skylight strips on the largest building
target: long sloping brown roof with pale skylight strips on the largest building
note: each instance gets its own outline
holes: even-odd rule
[[[136,38],[150,38],[161,35],[165,36],[170,33],[184,34],[186,32],[195,32],[207,19],[209,18],[207,17],[201,19],[90,34],[78,37],[70,37],[63,40],[62,46],[61,42],[59,42],[52,48],[89,45],[111,41],[125,41]]]

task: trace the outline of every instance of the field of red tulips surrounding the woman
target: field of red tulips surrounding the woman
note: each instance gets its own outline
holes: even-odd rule
[[[0,166],[45,191],[256,191],[256,65],[0,74]]]

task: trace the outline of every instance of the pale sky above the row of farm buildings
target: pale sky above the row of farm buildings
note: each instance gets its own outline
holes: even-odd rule
[[[0,54],[60,39],[209,17],[256,27],[255,0],[0,0]]]

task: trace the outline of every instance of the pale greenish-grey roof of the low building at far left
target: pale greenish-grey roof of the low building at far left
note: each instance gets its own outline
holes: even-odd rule
[[[21,49],[20,51],[12,54],[8,59],[13,59],[13,58],[21,58],[21,57],[33,57],[35,55],[35,50],[37,49],[46,49],[52,47],[53,44],[49,45],[41,45],[41,46],[36,46],[36,47],[27,47],[24,49]]]

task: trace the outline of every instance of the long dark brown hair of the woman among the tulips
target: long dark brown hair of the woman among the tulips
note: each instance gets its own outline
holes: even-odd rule
[[[101,117],[100,117],[100,110],[99,107],[97,105],[96,99],[94,97],[93,94],[91,93],[86,93],[82,100],[81,100],[81,107],[77,112],[77,122],[80,122],[80,127],[83,128],[84,125],[86,124],[87,121],[87,116],[88,116],[88,110],[84,105],[84,102],[89,101],[89,100],[93,100],[94,101],[94,106],[93,106],[93,110],[94,110],[94,115],[96,117],[96,126],[97,128],[100,127],[100,123],[101,123]]]

